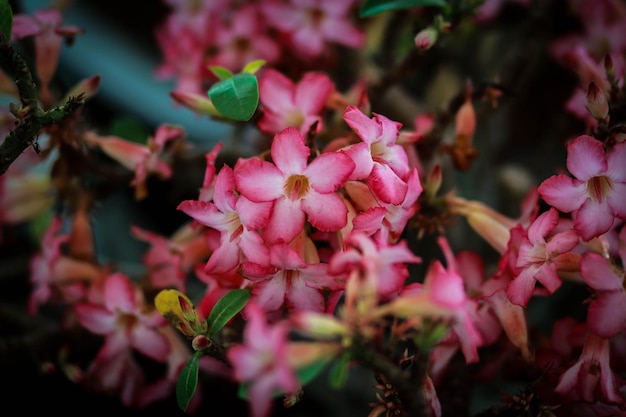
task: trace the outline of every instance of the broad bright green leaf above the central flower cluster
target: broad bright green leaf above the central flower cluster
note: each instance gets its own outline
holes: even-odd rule
[[[242,72],[213,84],[209,97],[224,116],[247,121],[259,104],[259,83],[254,75]]]

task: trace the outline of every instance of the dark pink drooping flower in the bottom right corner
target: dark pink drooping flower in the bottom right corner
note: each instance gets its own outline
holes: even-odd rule
[[[555,391],[585,402],[623,403],[610,357],[609,339],[587,332],[580,358],[561,375]]]

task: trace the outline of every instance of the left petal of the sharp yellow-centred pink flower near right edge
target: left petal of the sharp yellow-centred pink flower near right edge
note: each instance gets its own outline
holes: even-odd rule
[[[585,182],[566,175],[555,175],[544,180],[538,191],[546,203],[564,213],[578,209],[589,197]]]

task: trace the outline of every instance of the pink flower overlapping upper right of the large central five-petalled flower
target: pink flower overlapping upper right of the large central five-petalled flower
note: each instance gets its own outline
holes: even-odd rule
[[[370,119],[356,106],[348,106],[343,119],[362,140],[344,148],[356,166],[350,179],[364,179],[384,203],[401,204],[410,173],[406,152],[396,143],[401,124],[380,114]]]

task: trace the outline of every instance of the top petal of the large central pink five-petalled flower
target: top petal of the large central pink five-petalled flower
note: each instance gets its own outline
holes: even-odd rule
[[[285,177],[304,172],[311,154],[298,129],[292,126],[274,136],[271,152],[274,164]]]

